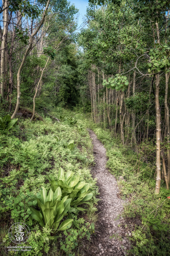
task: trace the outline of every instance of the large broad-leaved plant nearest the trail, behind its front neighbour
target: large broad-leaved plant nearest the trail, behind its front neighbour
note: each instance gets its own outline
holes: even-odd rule
[[[56,191],[59,187],[62,192],[62,196],[68,196],[71,199],[71,206],[75,206],[78,210],[84,211],[84,208],[77,207],[80,204],[89,204],[92,199],[93,193],[88,192],[90,184],[85,181],[80,181],[79,175],[74,175],[74,172],[69,171],[64,175],[64,170],[60,167],[58,172],[58,178],[53,175],[46,176],[50,181],[51,188]]]

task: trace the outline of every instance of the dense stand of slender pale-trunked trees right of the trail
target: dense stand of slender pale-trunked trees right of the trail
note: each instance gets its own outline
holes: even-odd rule
[[[94,3],[95,1],[92,1]],[[100,1],[97,1],[99,4]],[[92,118],[156,164],[155,193],[170,184],[169,1],[90,4],[79,35]],[[150,150],[150,149],[149,149]]]

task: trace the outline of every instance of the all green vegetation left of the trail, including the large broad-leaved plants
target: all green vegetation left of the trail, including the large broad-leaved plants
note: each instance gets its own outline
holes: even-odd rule
[[[76,121],[20,118],[19,129],[0,133],[2,255],[10,255],[5,248],[11,245],[11,223],[24,222],[31,232],[26,244],[31,251],[14,255],[75,255],[82,237],[89,240],[94,232],[98,188],[89,170],[92,144]]]

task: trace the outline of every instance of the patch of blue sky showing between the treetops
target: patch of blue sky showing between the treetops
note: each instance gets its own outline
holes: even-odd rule
[[[78,27],[80,27],[83,22],[83,16],[86,14],[86,9],[88,7],[88,0],[68,0],[71,4],[75,4],[75,7],[79,9]]]

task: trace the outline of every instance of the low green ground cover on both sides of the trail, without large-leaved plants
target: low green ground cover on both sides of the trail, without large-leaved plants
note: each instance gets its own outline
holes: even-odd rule
[[[93,163],[93,147],[87,130],[90,128],[106,147],[107,167],[118,179],[120,195],[128,202],[123,216],[132,234],[129,253],[168,256],[170,200],[164,184],[160,195],[154,195],[154,164],[144,162],[140,152],[136,154],[124,148],[112,131],[101,129],[84,114],[58,108],[51,115],[60,118],[60,123],[48,117],[34,122],[20,118],[19,131],[12,129],[0,134],[2,255],[20,255],[4,248],[11,244],[8,228],[18,221],[26,223],[31,231],[27,245],[33,250],[22,255],[81,255],[79,247],[85,241],[83,237],[89,240],[97,219],[98,189],[90,174]],[[73,171],[81,177],[80,182],[89,183],[93,197],[89,205],[83,205],[86,213],[74,206],[69,208],[63,220],[73,219],[72,226],[57,232],[55,240],[51,240],[49,225],[41,227],[29,209],[39,209],[35,195],[41,186],[50,191],[46,175],[57,177],[59,167],[64,174]]]

